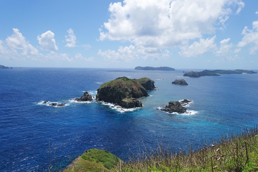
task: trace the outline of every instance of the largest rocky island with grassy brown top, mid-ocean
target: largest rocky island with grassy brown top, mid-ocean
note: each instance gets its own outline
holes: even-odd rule
[[[155,90],[155,85],[149,78],[119,77],[102,84],[97,89],[96,101],[114,103],[123,108],[142,107],[142,102],[136,99],[149,96],[147,91],[150,90]]]

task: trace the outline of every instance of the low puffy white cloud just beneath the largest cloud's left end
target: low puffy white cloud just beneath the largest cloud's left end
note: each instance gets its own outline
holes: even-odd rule
[[[110,62],[128,62],[138,57],[138,53],[136,52],[135,47],[132,45],[130,45],[129,47],[120,46],[117,52],[111,50],[102,52],[101,50],[99,50],[98,55],[103,57],[104,60]]]

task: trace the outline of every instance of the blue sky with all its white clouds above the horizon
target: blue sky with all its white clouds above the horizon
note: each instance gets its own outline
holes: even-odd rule
[[[1,0],[8,67],[258,69],[257,0]]]

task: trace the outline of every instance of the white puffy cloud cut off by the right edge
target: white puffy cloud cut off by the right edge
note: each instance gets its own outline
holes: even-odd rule
[[[253,29],[249,30],[247,26],[242,31],[243,38],[237,44],[238,47],[251,45],[250,54],[256,54],[258,51],[258,20],[253,21]]]

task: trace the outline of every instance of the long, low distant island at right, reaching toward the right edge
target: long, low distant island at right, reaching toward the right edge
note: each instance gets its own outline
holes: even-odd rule
[[[220,76],[218,74],[242,74],[242,73],[253,74],[253,73],[257,73],[257,72],[241,70],[241,69],[236,69],[234,71],[230,71],[230,70],[214,70],[214,71],[204,70],[204,71],[201,71],[201,72],[194,72],[194,71],[187,72],[183,76],[184,77],[199,78],[199,77],[202,77],[202,76]]]

